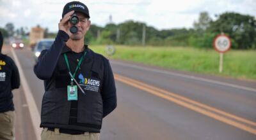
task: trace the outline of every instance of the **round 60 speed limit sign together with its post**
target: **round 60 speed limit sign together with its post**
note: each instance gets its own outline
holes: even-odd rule
[[[217,35],[213,41],[213,46],[220,53],[219,73],[223,71],[223,53],[227,52],[231,47],[231,40],[224,33]]]

